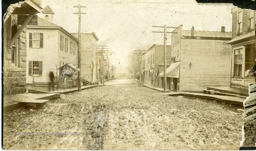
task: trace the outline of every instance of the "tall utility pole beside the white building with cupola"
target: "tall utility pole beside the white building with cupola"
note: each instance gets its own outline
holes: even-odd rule
[[[84,8],[86,6],[81,6],[80,4],[78,6],[74,6],[75,8],[78,8],[78,91],[81,91],[81,14],[86,14],[81,12],[81,8]]]

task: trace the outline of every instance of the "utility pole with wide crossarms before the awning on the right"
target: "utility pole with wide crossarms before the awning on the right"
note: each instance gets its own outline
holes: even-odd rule
[[[167,33],[174,33],[174,32],[167,32],[166,28],[177,28],[177,27],[167,27],[164,26],[152,26],[154,28],[164,28],[164,32],[162,31],[152,31],[152,33],[164,33],[164,92],[166,92],[166,34]]]

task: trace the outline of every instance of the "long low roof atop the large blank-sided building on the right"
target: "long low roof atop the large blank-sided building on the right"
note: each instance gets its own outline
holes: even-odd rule
[[[182,36],[191,36],[191,30],[183,30]],[[195,30],[193,36],[206,38],[231,38],[231,32]]]

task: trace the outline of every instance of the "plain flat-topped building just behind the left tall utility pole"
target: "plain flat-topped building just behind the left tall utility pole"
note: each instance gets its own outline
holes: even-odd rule
[[[78,38],[78,33],[72,33]],[[97,82],[97,35],[81,33],[81,78],[88,82]]]

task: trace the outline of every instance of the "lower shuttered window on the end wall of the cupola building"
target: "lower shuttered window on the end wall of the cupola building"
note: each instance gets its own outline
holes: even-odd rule
[[[29,61],[28,62],[28,75],[42,76],[43,62],[42,61]]]

